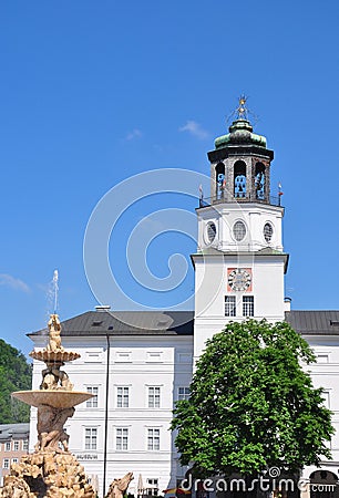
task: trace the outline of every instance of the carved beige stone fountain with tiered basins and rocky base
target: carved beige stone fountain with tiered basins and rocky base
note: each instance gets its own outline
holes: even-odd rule
[[[38,443],[34,453],[12,464],[10,475],[4,477],[4,486],[0,488],[0,498],[96,498],[84,468],[69,450],[69,435],[64,429],[64,424],[75,412],[74,406],[91,398],[92,394],[74,391],[68,374],[61,370],[80,354],[62,346],[58,314],[51,314],[48,326],[47,347],[30,353],[47,366],[42,371],[40,390],[12,393],[13,397],[38,408]],[[120,495],[115,490],[126,490],[132,478],[130,473],[115,479],[107,496],[117,498]]]

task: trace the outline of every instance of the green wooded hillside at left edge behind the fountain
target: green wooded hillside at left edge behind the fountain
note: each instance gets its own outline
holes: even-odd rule
[[[28,405],[11,397],[13,391],[31,388],[32,369],[24,355],[0,339],[0,424],[29,422]]]

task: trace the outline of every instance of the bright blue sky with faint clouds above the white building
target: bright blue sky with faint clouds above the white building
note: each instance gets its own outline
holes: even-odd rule
[[[208,175],[206,152],[242,92],[276,154],[287,294],[295,309],[338,309],[338,21],[336,0],[1,2],[0,336],[30,350],[24,333],[52,311],[55,268],[62,319],[97,304],[82,260],[96,203],[150,169]],[[194,212],[195,201],[151,196],[125,210],[112,237],[124,250],[145,215],[175,207]],[[192,238],[164,234],[150,246],[150,268],[164,277],[173,252],[193,250]],[[192,289],[189,269],[167,298],[133,292],[165,308]]]

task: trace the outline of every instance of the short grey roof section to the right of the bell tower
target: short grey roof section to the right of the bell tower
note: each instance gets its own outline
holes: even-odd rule
[[[339,310],[294,310],[285,318],[302,335],[339,335]]]

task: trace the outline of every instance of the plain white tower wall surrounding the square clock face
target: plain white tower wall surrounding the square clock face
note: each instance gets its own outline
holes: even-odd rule
[[[275,322],[285,319],[284,257],[214,255],[195,257],[195,330],[194,356],[197,359],[207,339],[219,332],[227,322],[243,321],[243,295],[254,297],[254,318]],[[251,270],[251,290],[230,292],[227,289],[227,270]],[[225,317],[225,295],[235,295],[236,317]]]

